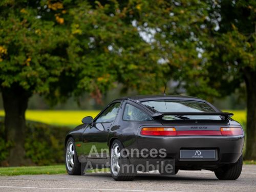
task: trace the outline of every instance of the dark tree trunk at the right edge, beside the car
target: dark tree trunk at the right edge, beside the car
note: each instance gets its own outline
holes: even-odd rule
[[[247,93],[246,153],[244,159],[256,159],[256,71],[245,70]]]

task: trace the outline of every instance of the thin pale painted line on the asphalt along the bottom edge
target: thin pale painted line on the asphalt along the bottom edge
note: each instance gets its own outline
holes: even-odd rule
[[[24,189],[53,189],[53,190],[110,190],[110,191],[139,191],[139,192],[182,192],[170,190],[136,190],[136,189],[105,189],[105,188],[52,188],[52,187],[16,187],[0,186],[0,188],[24,188]]]

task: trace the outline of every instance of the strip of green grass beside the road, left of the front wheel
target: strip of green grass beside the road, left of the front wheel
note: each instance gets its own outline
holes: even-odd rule
[[[0,176],[65,174],[65,165],[0,167]]]

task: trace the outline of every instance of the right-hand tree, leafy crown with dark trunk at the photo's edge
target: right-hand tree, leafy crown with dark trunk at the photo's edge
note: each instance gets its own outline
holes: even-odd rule
[[[169,78],[180,82],[170,91],[180,93],[183,88],[189,95],[210,100],[246,90],[245,159],[256,159],[255,7],[255,1],[180,1],[176,9],[170,8],[174,20],[163,17],[155,23],[160,28],[157,45],[168,66],[166,76],[175,71]],[[186,11],[190,20],[184,24],[180,14]],[[198,25],[193,25],[195,21]],[[187,33],[180,28],[187,28]]]

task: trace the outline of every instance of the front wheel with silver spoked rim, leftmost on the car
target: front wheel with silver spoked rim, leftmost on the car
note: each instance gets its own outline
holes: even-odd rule
[[[69,175],[81,175],[81,163],[78,161],[75,141],[72,137],[66,143],[65,164]]]

